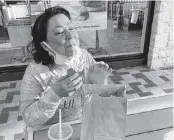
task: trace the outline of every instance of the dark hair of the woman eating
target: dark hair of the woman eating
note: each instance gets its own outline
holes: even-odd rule
[[[32,28],[33,40],[28,47],[32,47],[31,54],[36,63],[43,65],[54,64],[54,58],[40,45],[42,41],[46,41],[48,20],[56,14],[64,14],[70,20],[70,13],[60,6],[46,9],[35,21]],[[28,49],[30,50],[30,49]]]

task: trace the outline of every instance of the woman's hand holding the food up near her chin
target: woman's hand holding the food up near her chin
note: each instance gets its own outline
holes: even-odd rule
[[[67,97],[69,93],[77,91],[83,85],[79,73],[67,74],[56,80],[52,86],[53,91],[60,97]]]

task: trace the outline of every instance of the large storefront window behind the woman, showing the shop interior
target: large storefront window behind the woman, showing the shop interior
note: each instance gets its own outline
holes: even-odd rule
[[[26,49],[31,41],[31,28],[36,17],[50,2],[6,1],[5,4],[1,4],[0,65],[25,64],[32,61]],[[84,5],[83,1],[82,3],[88,10],[93,9],[88,11],[89,16],[97,10],[106,10],[107,28],[78,31],[81,48],[87,49],[94,57],[143,52],[147,1],[107,1],[106,9],[103,6],[97,7],[100,1],[92,5],[90,3]]]

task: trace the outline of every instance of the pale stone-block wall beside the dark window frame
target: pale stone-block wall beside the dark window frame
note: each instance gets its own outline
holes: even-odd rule
[[[150,39],[148,67],[173,66],[173,2],[156,1]]]

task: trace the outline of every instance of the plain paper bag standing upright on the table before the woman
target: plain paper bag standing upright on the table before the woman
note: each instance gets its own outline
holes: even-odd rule
[[[84,99],[81,140],[123,140],[127,99],[89,94]]]

